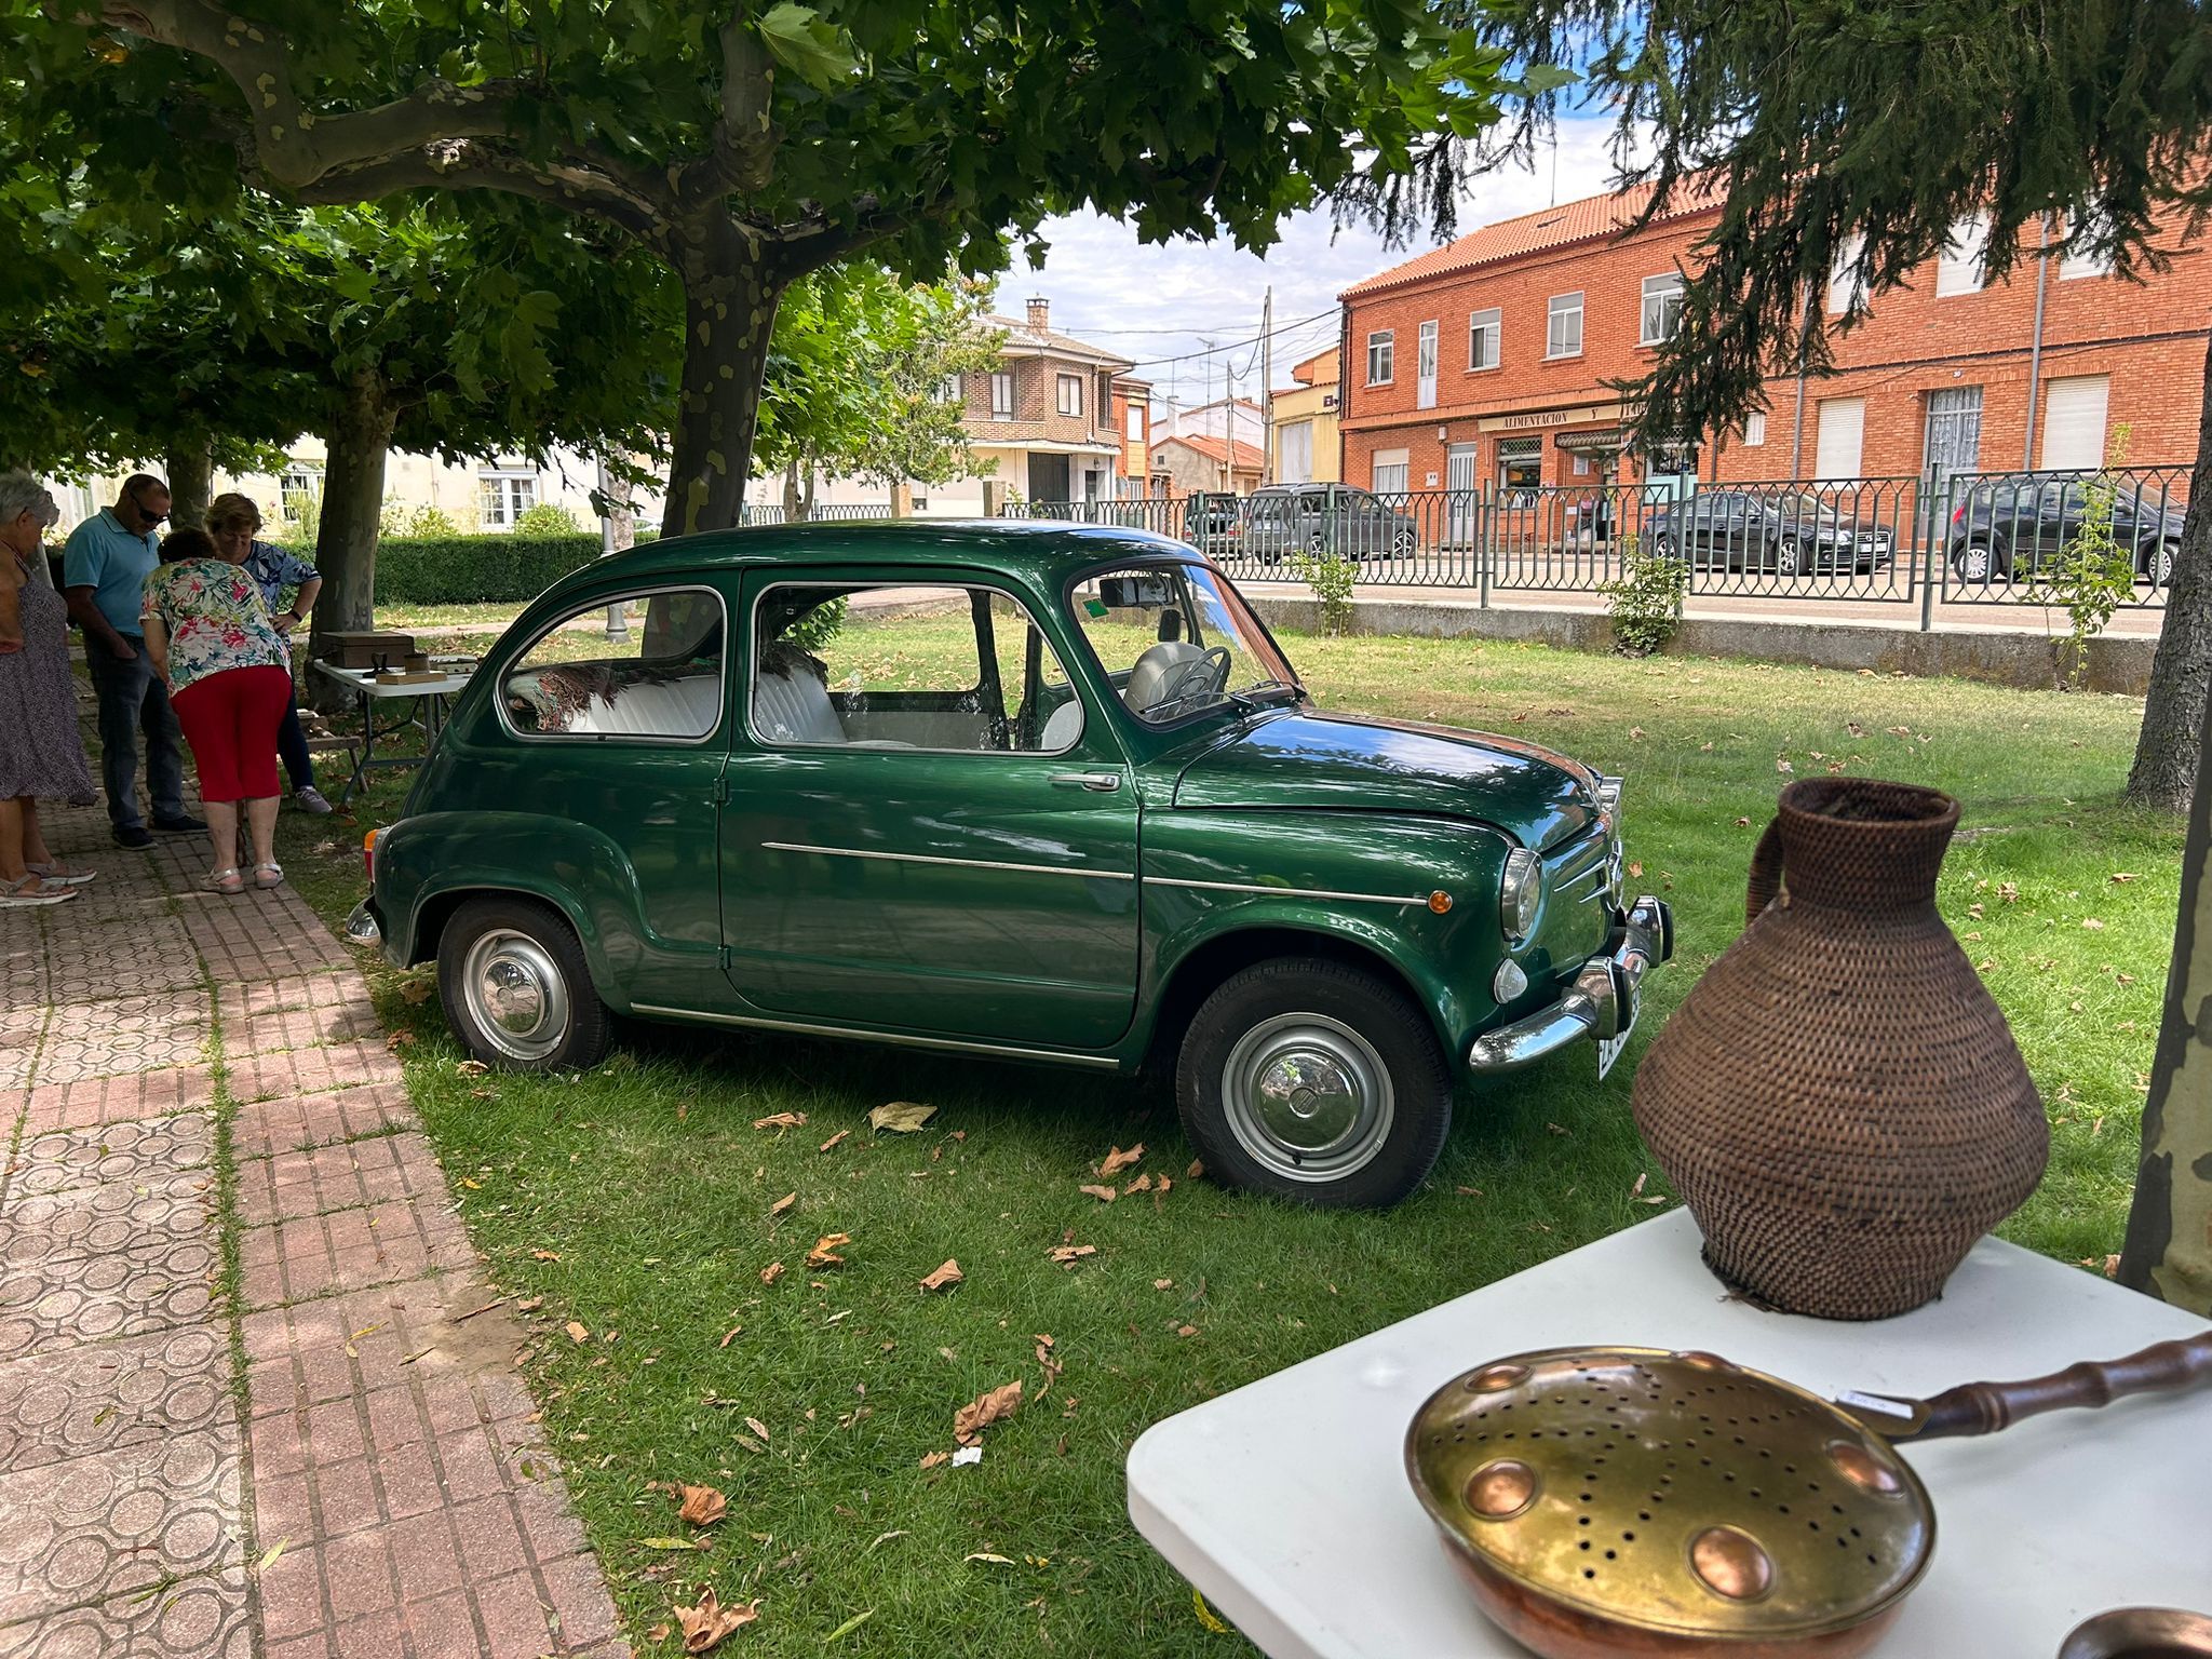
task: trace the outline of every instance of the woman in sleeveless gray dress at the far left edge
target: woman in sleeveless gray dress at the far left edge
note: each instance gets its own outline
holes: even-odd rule
[[[40,796],[100,799],[77,732],[69,606],[31,573],[60,515],[31,473],[0,471],[0,909],[60,905],[93,878],[62,865],[38,827]]]

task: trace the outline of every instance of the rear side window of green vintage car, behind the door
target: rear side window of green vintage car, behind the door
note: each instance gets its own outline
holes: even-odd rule
[[[712,588],[597,597],[538,635],[507,670],[500,708],[522,737],[697,743],[721,726],[726,637]]]

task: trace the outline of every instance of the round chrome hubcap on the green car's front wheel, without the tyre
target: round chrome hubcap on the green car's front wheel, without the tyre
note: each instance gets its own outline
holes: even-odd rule
[[[1383,1055],[1325,1013],[1279,1013],[1239,1037],[1221,1104],[1237,1144],[1290,1181],[1338,1181],[1389,1139]]]

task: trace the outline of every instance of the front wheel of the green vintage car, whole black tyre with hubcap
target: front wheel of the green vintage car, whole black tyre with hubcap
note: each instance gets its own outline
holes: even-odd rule
[[[1303,1099],[1285,1099],[1287,1086]],[[1378,973],[1279,958],[1206,998],[1177,1057],[1175,1106],[1214,1179],[1376,1210],[1418,1188],[1444,1150],[1451,1073],[1427,1018]]]

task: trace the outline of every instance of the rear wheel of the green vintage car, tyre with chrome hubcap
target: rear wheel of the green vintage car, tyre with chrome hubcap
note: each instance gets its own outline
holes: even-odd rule
[[[608,1013],[566,918],[535,898],[467,900],[438,936],[438,1000],[460,1046],[500,1071],[588,1071]]]

